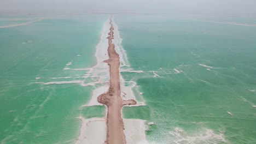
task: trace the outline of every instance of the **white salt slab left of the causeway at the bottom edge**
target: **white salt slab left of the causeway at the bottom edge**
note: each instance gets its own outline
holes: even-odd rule
[[[75,144],[102,144],[106,140],[106,120],[104,118],[85,119],[81,121],[80,133]]]

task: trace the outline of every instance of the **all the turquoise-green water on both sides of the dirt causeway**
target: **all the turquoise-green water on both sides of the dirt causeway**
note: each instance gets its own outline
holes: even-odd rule
[[[20,23],[5,20],[17,17],[1,15],[0,23]],[[104,106],[82,107],[95,87],[43,83],[83,80],[78,76],[85,71],[63,69],[69,62],[69,68],[95,65],[107,19],[52,17],[0,29],[0,143],[74,143],[77,117],[104,116]],[[126,81],[136,81],[134,91],[146,101],[146,106],[124,107],[123,117],[154,122],[147,126],[149,143],[256,142],[256,27],[170,16],[114,15],[114,20],[131,68],[144,71],[121,73]]]

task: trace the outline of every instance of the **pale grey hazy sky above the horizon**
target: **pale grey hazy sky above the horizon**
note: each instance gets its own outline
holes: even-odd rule
[[[256,0],[0,0],[0,13],[201,13],[256,15]]]

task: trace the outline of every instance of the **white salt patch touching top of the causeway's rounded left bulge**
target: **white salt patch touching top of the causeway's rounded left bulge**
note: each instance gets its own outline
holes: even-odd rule
[[[103,105],[101,103],[98,103],[97,101],[97,97],[105,92],[108,91],[109,86],[102,86],[102,87],[98,87],[96,89],[94,89],[94,91],[92,91],[92,96],[91,96],[91,100],[89,101],[88,104],[83,105],[83,106],[94,106],[94,105]]]

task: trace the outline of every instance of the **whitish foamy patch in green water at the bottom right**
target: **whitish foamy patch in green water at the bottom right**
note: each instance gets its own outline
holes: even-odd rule
[[[188,134],[187,131],[184,131],[182,128],[175,128],[173,131],[170,131],[170,138],[173,143],[183,144],[183,143],[219,143],[226,142],[225,137],[222,133],[215,134],[211,129],[203,129],[200,131],[192,131]]]

